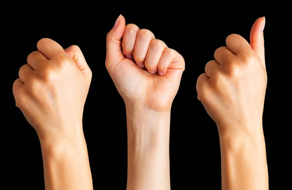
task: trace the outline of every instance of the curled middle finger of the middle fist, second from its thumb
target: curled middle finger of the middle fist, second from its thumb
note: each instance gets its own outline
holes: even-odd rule
[[[134,60],[137,66],[143,68],[146,59],[150,41],[154,39],[153,33],[147,29],[139,30],[136,38],[135,48],[133,52]]]

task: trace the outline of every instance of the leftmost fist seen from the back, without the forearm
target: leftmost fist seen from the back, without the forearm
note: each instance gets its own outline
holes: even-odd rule
[[[65,51],[43,38],[13,84],[16,105],[40,137],[70,135],[82,128],[91,69],[77,46]]]

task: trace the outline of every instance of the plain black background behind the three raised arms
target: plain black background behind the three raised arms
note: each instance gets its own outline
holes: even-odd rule
[[[205,64],[214,59],[214,51],[225,45],[228,35],[237,33],[249,39],[254,21],[258,17],[266,17],[264,35],[268,86],[263,126],[269,183],[271,190],[290,186],[289,174],[283,172],[291,171],[288,169],[291,163],[291,157],[288,156],[291,140],[285,137],[291,124],[290,119],[284,117],[282,109],[286,107],[288,113],[291,111],[288,102],[279,98],[284,86],[281,73],[285,72],[283,63],[279,63],[279,56],[284,56],[279,49],[285,47],[279,43],[286,39],[289,22],[281,24],[282,18],[274,11],[256,11],[252,8],[244,11],[234,9],[231,12],[202,9],[200,6],[190,8],[190,5],[179,7],[175,4],[164,8],[153,5],[148,10],[131,8],[131,5],[126,9],[107,8],[106,5],[98,8],[92,5],[73,6],[50,10],[35,8],[21,13],[15,11],[8,13],[7,19],[3,17],[4,24],[7,24],[3,27],[6,32],[4,41],[8,39],[9,42],[5,44],[7,54],[3,55],[8,57],[8,62],[3,64],[8,65],[4,69],[9,73],[8,79],[5,78],[9,87],[5,93],[9,97],[5,100],[8,106],[3,122],[3,128],[8,132],[2,137],[6,161],[2,163],[5,177],[1,181],[8,185],[4,189],[44,189],[37,134],[15,106],[12,94],[18,69],[26,64],[27,55],[37,50],[37,41],[43,37],[55,40],[63,48],[78,45],[84,53],[93,73],[83,123],[94,189],[126,189],[125,105],[105,68],[106,35],[120,14],[126,18],[126,24],[134,23],[140,29],[149,29],[156,38],[180,52],[185,59],[186,69],[171,111],[170,167],[173,190],[221,189],[218,131],[197,100],[197,77],[204,72]],[[17,17],[13,18],[13,15]]]

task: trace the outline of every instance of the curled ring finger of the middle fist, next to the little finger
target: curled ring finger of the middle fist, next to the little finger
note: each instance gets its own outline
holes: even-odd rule
[[[165,48],[167,48],[167,46],[163,41],[159,39],[151,40],[145,59],[145,67],[149,73],[154,74],[157,72],[157,65]],[[159,75],[162,76],[164,72],[166,72],[166,70],[159,70]]]

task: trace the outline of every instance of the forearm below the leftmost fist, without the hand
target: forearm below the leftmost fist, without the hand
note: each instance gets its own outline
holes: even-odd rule
[[[41,140],[46,190],[92,190],[85,138]]]

